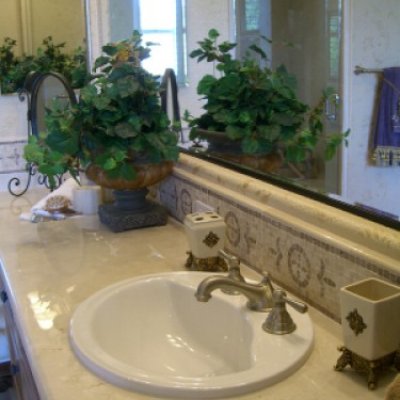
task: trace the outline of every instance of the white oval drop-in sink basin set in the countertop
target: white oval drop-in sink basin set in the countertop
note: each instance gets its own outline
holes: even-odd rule
[[[263,331],[266,313],[219,290],[194,297],[207,275],[146,275],[109,286],[76,309],[70,340],[79,360],[125,389],[173,398],[235,396],[292,374],[312,350],[307,314],[289,310],[297,329]]]

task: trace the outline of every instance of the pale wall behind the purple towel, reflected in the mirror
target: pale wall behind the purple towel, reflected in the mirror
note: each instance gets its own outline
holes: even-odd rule
[[[352,0],[346,3],[348,40],[345,110],[351,128],[345,154],[347,198],[400,215],[400,168],[369,162],[369,142],[376,116],[377,74],[355,75],[354,67],[399,66],[400,4],[398,0]]]

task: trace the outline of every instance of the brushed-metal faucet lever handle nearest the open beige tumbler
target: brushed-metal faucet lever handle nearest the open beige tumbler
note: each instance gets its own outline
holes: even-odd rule
[[[296,324],[286,310],[286,304],[292,306],[296,311],[305,313],[308,309],[307,305],[296,300],[288,299],[286,292],[281,289],[275,289],[272,294],[274,307],[266,318],[263,329],[274,335],[285,335],[296,329]]]

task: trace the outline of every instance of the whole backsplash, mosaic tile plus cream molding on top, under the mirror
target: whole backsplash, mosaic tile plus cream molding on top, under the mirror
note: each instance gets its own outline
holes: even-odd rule
[[[160,200],[180,221],[196,199],[214,206],[227,221],[229,250],[335,320],[342,286],[369,276],[400,284],[398,232],[254,181],[181,156]]]

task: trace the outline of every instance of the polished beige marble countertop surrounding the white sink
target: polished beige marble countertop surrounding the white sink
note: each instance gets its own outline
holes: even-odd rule
[[[21,198],[0,194],[0,259],[11,305],[42,400],[125,400],[154,397],[128,392],[97,378],[74,356],[68,325],[91,294],[137,275],[184,269],[185,234],[171,220],[164,227],[112,233],[97,217],[33,224],[19,220],[43,192]],[[383,399],[389,373],[369,391],[364,377],[333,370],[340,326],[311,309],[315,347],[286,380],[235,399]]]

